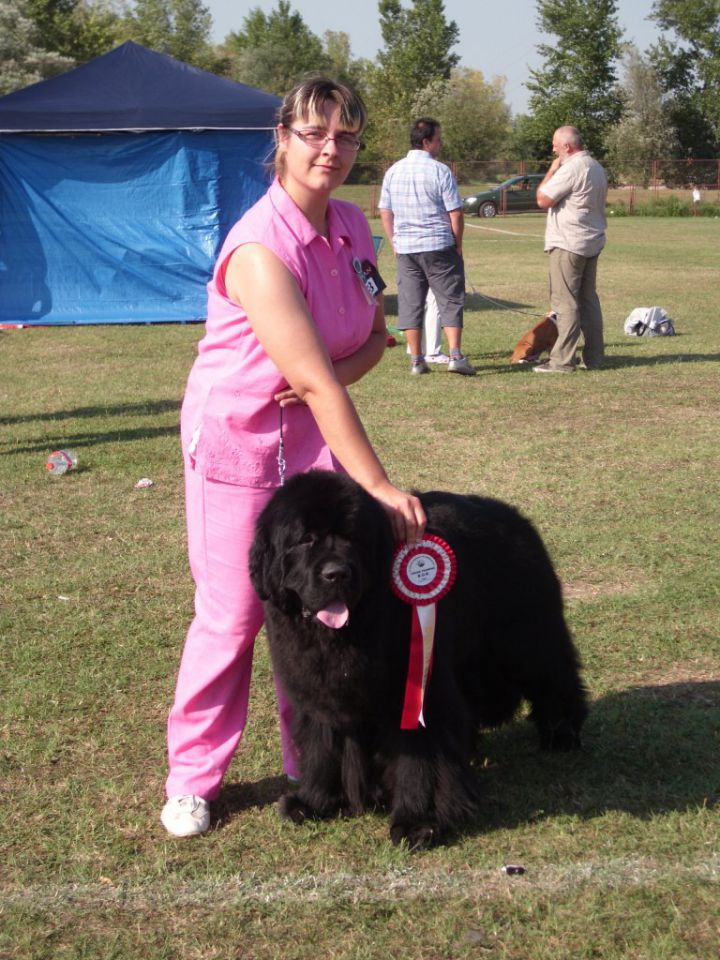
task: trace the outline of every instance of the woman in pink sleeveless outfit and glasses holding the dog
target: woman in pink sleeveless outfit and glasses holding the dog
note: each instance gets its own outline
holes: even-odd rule
[[[276,179],[231,229],[208,284],[181,418],[196,591],[168,720],[161,820],[174,836],[208,829],[245,726],[263,620],[247,558],[255,520],[280,483],[281,437],[287,475],[345,470],[385,506],[398,540],[423,533],[420,502],[388,479],[346,389],[386,343],[382,295],[356,269],[375,260],[367,221],[330,196],[350,172],[365,121],[360,98],[323,78],[285,97]],[[288,706],[277,695],[283,769],[294,777]]]

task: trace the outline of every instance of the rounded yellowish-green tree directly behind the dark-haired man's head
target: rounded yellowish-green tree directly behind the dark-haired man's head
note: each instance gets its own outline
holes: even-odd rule
[[[443,152],[452,160],[490,160],[510,133],[505,78],[488,83],[479,70],[456,67],[449,80],[435,80],[413,103],[416,116],[430,114],[442,124]]]

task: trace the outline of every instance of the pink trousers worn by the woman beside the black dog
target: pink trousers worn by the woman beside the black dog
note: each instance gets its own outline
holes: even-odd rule
[[[195,618],[188,631],[168,719],[169,797],[213,800],[247,719],[252,655],[263,610],[248,574],[255,520],[273,494],[206,480],[185,466]],[[276,683],[283,770],[298,776],[290,708]]]

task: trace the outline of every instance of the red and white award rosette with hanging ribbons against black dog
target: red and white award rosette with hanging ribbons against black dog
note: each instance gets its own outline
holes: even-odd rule
[[[417,730],[418,724],[425,726],[423,703],[432,670],[436,603],[455,582],[456,566],[452,547],[433,533],[395,551],[391,586],[397,597],[412,606],[401,730]]]

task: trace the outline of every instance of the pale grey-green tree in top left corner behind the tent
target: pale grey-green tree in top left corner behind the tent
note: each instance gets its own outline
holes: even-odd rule
[[[0,0],[0,95],[72,67],[73,61],[40,44],[24,0]]]

